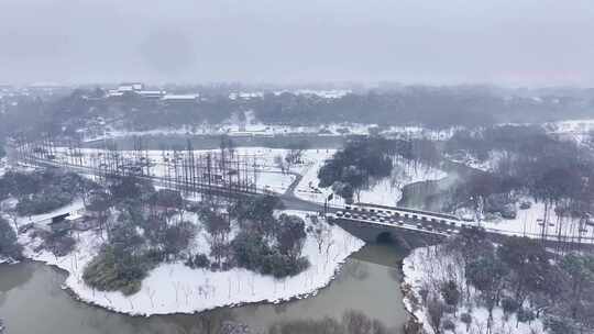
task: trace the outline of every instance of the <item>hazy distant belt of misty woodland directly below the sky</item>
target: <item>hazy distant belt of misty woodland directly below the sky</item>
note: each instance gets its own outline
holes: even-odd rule
[[[234,88],[240,89],[240,88]],[[254,89],[254,88],[252,88]],[[587,90],[497,90],[483,87],[398,87],[358,91],[340,98],[273,93],[231,99],[232,87],[178,87],[198,91],[190,103],[164,103],[135,93],[108,97],[100,88],[62,90],[56,94],[23,94],[0,114],[0,137],[14,132],[77,135],[97,118],[129,130],[218,124],[233,114],[253,111],[268,124],[340,122],[425,125],[431,129],[484,126],[496,123],[541,123],[588,116],[594,94]],[[538,97],[538,98],[535,98]]]

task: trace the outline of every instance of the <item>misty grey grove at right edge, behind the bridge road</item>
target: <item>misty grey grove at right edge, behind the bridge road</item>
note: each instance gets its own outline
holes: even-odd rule
[[[459,207],[515,218],[516,203],[531,198],[544,203],[548,220],[554,209],[559,223],[583,224],[594,208],[594,155],[583,145],[554,137],[539,126],[504,125],[461,131],[446,144],[446,152],[464,152],[480,159],[497,157],[487,171],[474,170],[442,193],[442,210]],[[528,207],[528,205],[527,205]]]

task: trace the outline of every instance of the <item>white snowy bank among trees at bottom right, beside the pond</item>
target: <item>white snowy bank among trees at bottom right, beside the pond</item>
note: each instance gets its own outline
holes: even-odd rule
[[[420,323],[422,323],[424,330],[429,334],[433,334],[435,332],[429,323],[426,305],[415,302],[422,300],[420,290],[426,287],[436,288],[437,283],[448,280],[454,280],[458,287],[465,287],[463,266],[460,266],[459,260],[454,256],[440,250],[441,247],[443,246],[438,245],[417,248],[403,261],[404,290],[407,291],[408,288],[410,288],[408,294],[405,296],[405,307]],[[458,311],[455,312],[458,316],[451,314],[444,316],[455,324],[454,334],[487,333],[488,311],[485,307],[476,303],[474,296],[476,296],[477,292],[474,288],[470,288],[470,293],[471,298],[469,298],[469,301],[462,300],[461,304],[458,307]],[[460,320],[460,314],[462,313],[469,313],[472,316],[470,331],[466,331],[466,324]],[[510,314],[506,318],[499,307],[494,309],[493,321],[493,333],[547,333],[539,319],[531,323],[517,323],[516,314]]]

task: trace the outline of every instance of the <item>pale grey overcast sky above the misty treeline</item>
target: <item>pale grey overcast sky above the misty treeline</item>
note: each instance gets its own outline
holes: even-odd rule
[[[594,0],[0,0],[0,82],[594,86]]]

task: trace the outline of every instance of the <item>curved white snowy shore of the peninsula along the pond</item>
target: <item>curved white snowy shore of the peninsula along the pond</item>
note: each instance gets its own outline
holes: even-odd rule
[[[306,219],[306,212],[286,212]],[[140,292],[125,297],[121,292],[94,290],[82,281],[85,266],[97,254],[102,238],[97,232],[76,233],[76,248],[64,257],[34,249],[40,240],[21,235],[19,241],[25,245],[25,255],[34,260],[55,265],[69,272],[65,286],[79,299],[113,311],[129,314],[193,313],[217,307],[248,302],[278,302],[290,298],[315,294],[334,277],[340,264],[363,242],[337,225],[329,226],[327,244],[319,252],[318,243],[308,235],[302,255],[311,266],[299,275],[282,280],[263,276],[245,269],[229,271],[190,269],[183,263],[162,264],[148,272]],[[204,247],[205,236],[199,233],[197,247]],[[327,252],[328,250],[328,252]]]

